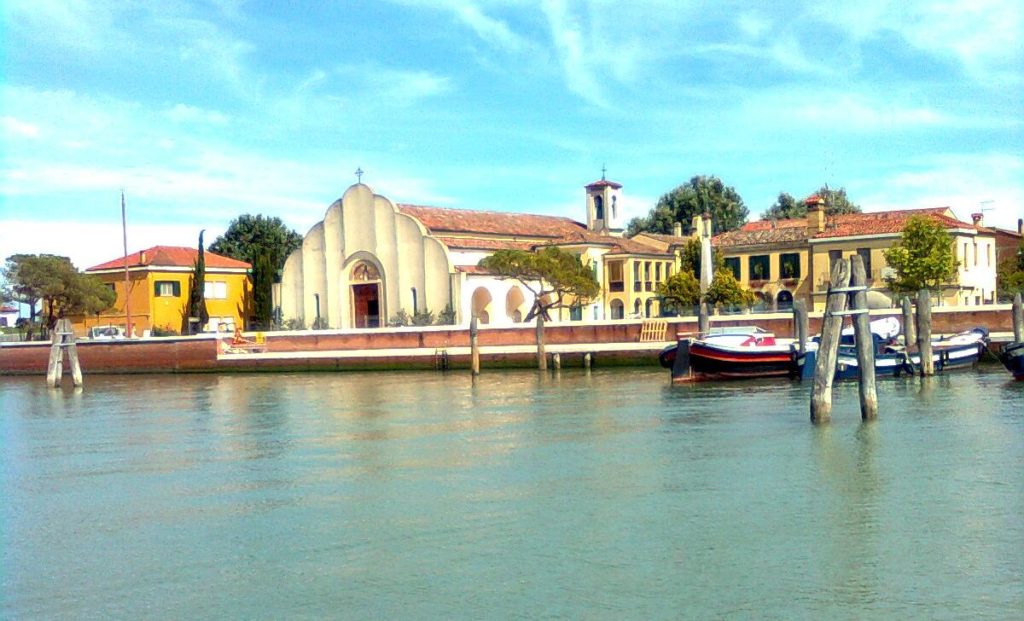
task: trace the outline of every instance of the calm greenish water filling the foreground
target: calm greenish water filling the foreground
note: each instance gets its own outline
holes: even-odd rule
[[[3,618],[1007,619],[1024,382],[0,378]]]

